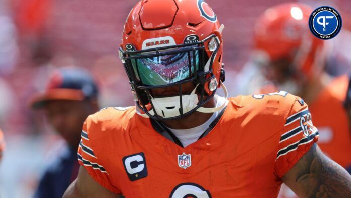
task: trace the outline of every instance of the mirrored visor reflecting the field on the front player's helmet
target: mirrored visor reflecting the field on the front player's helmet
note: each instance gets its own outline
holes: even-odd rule
[[[185,80],[199,69],[199,50],[131,59],[136,78],[143,85],[159,86]]]

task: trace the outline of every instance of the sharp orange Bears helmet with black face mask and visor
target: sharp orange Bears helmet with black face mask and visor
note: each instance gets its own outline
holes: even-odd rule
[[[160,120],[218,111],[201,106],[224,81],[223,27],[203,0],[142,0],[134,6],[124,26],[120,58],[136,105],[145,112],[140,115]],[[181,85],[189,82],[194,91],[182,95]],[[151,93],[170,86],[179,86],[179,94],[154,98]]]

